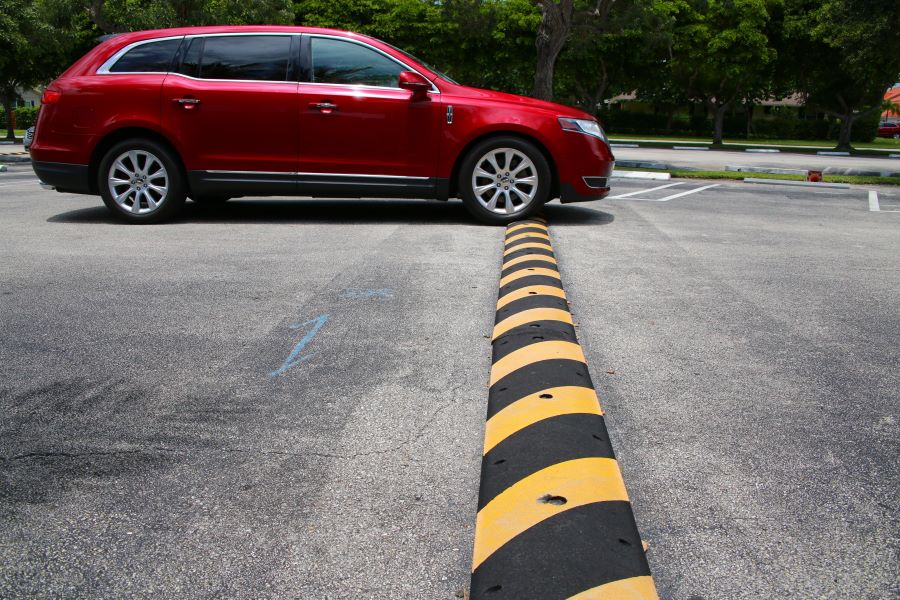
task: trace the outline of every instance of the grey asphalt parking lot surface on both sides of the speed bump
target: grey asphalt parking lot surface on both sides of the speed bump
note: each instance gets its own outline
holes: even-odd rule
[[[662,598],[900,593],[871,189],[547,206]],[[503,236],[456,201],[125,226],[0,173],[0,597],[464,597]]]

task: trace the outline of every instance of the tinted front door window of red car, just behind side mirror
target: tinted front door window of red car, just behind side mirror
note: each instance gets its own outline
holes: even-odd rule
[[[399,87],[404,68],[374,50],[341,40],[313,38],[312,80],[316,83]]]

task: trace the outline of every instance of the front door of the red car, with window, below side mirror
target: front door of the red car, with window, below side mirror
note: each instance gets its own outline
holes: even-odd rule
[[[300,181],[316,174],[425,179],[435,175],[440,93],[413,99],[398,76],[412,70],[362,42],[304,35]]]

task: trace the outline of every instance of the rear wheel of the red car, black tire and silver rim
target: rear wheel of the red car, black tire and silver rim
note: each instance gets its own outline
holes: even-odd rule
[[[130,155],[132,152],[134,154]],[[120,166],[113,170],[119,159],[122,159]],[[137,164],[133,164],[134,161]],[[159,166],[162,170],[158,170]],[[133,175],[130,179],[132,183],[124,179],[128,173]],[[153,177],[154,173],[157,177]],[[162,183],[164,186],[159,185]],[[135,185],[140,186],[139,191],[136,191]],[[165,194],[158,191],[161,187],[164,187]],[[181,210],[187,197],[178,158],[166,146],[145,138],[124,140],[109,149],[97,170],[97,188],[106,207],[128,223],[149,224],[170,219]],[[115,196],[114,190],[117,192]]]

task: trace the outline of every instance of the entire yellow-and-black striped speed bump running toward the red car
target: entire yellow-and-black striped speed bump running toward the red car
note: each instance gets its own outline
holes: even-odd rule
[[[506,230],[472,600],[658,600],[549,229]]]

